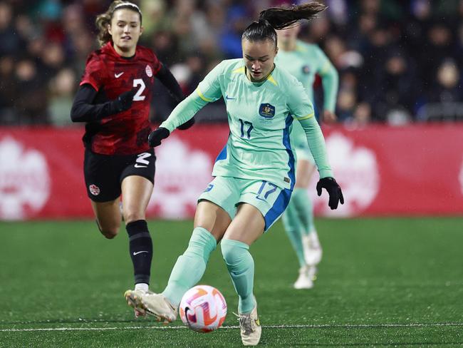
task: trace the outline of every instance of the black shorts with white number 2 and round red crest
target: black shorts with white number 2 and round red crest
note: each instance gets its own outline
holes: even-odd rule
[[[155,181],[156,156],[153,149],[137,155],[100,155],[85,149],[83,174],[90,200],[109,202],[120,196],[120,184],[130,175]]]

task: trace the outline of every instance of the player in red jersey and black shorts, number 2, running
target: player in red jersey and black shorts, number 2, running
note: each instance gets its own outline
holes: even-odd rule
[[[71,118],[85,122],[84,176],[100,232],[112,239],[122,215],[129,237],[135,293],[148,292],[152,240],[145,220],[155,177],[150,134],[152,86],[158,78],[177,99],[184,98],[172,73],[149,48],[137,46],[142,34],[138,6],[114,1],[96,19],[101,48],[88,57]],[[183,125],[187,128],[194,121]],[[135,311],[135,316],[145,314]]]

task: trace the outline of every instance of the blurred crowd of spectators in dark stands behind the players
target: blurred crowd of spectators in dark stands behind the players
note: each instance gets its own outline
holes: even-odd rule
[[[0,124],[71,123],[85,59],[98,48],[104,0],[0,0]],[[241,56],[241,33],[278,0],[139,0],[144,33],[185,93],[224,58]],[[463,120],[463,0],[326,0],[301,39],[323,48],[340,74],[339,122]],[[294,1],[298,3],[298,1]],[[316,103],[321,81],[316,80]],[[172,110],[156,84],[152,121]],[[222,102],[200,121],[225,121]]]

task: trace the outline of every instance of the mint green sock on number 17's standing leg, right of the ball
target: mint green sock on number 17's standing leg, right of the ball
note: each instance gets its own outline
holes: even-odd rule
[[[254,287],[254,260],[249,253],[249,245],[237,240],[220,242],[222,255],[229,271],[231,282],[239,296],[238,312],[251,313],[256,305],[252,289]]]

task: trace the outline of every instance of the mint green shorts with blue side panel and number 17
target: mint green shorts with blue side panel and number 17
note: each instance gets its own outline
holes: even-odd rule
[[[266,180],[217,176],[207,185],[198,202],[209,200],[219,205],[231,219],[235,217],[238,205],[248,203],[261,212],[266,231],[283,214],[291,193],[291,190],[279,188]]]

